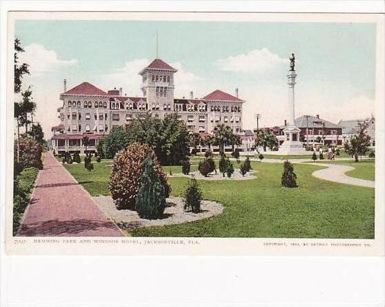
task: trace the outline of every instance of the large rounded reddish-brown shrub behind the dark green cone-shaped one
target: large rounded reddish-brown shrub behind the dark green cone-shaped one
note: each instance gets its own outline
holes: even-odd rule
[[[134,143],[113,159],[109,189],[118,209],[135,208],[135,198],[138,195],[141,186],[140,178],[144,171],[144,160],[149,154],[153,154],[149,145]],[[155,155],[152,156],[152,160],[153,169],[165,187],[165,197],[169,197],[171,187],[167,183],[167,176]]]

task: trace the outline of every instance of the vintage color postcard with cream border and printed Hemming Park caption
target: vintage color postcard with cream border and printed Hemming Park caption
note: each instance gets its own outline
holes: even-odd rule
[[[8,254],[384,254],[380,16],[8,14]]]

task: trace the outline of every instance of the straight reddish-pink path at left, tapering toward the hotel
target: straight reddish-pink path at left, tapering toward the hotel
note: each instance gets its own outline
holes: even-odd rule
[[[18,236],[124,236],[52,154],[43,164]]]

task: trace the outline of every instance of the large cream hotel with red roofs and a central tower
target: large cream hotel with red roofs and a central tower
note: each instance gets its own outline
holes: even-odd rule
[[[133,118],[142,118],[148,111],[156,118],[178,113],[188,131],[207,136],[217,124],[232,127],[235,133],[242,131],[242,104],[235,95],[216,90],[203,98],[174,97],[174,73],[177,70],[161,59],[154,59],[143,68],[141,90],[143,97],[123,95],[122,88],[102,91],[96,86],[84,82],[60,94],[63,106],[59,112],[60,124],[52,127],[53,149],[57,153],[64,151],[84,151],[82,138],[88,136],[87,147],[95,151],[100,138],[114,127],[127,125]]]

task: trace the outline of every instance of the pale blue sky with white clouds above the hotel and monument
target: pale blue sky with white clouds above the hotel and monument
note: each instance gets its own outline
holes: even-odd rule
[[[63,79],[67,89],[90,82],[107,91],[141,95],[138,72],[158,57],[178,69],[175,96],[203,97],[239,89],[243,128],[283,124],[288,118],[286,75],[296,56],[296,117],[319,114],[331,122],[375,113],[375,24],[225,21],[17,20],[15,37],[30,64],[34,120],[46,137],[59,124]]]

